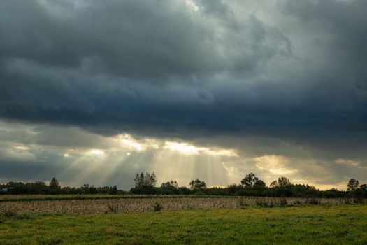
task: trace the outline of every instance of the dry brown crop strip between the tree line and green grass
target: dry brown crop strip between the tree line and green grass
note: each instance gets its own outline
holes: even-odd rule
[[[144,212],[154,210],[215,209],[245,206],[297,206],[305,204],[338,205],[355,202],[353,199],[294,198],[294,197],[151,197],[89,200],[34,200],[0,202],[0,214],[60,213],[92,214]],[[362,200],[366,202],[366,200]]]

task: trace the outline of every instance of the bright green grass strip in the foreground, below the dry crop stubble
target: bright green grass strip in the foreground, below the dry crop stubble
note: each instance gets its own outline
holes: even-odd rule
[[[367,244],[367,206],[18,214],[0,244]]]

